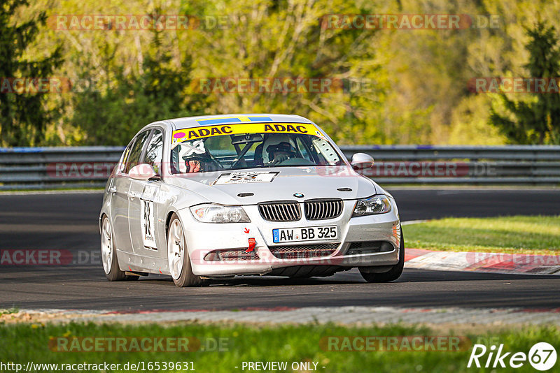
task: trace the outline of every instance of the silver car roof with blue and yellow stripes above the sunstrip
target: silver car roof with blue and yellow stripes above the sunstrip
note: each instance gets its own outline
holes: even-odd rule
[[[222,114],[201,115],[199,117],[184,117],[169,119],[175,129],[190,129],[200,126],[211,126],[213,124],[237,124],[237,123],[313,123],[309,119],[299,115],[285,114]]]

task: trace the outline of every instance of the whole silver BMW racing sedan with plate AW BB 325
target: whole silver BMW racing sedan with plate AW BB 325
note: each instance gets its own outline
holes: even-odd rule
[[[150,273],[177,286],[237,275],[398,279],[405,247],[391,194],[297,115],[186,117],[141,129],[99,215],[109,281]]]

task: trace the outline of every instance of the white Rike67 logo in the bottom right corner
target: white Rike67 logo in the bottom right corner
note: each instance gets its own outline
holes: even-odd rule
[[[556,364],[556,349],[547,342],[538,342],[526,354],[524,352],[506,352],[503,344],[498,347],[493,344],[489,349],[484,344],[475,344],[472,347],[467,367],[519,368],[527,361],[535,370],[542,372],[549,370]]]

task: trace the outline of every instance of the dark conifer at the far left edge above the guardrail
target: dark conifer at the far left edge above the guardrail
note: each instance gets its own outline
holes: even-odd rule
[[[43,59],[29,61],[24,53],[34,42],[38,25],[47,16],[41,12],[35,19],[12,24],[16,11],[28,6],[27,0],[0,0],[0,145],[27,146],[41,144],[43,133],[52,118],[45,110],[46,92],[13,93],[13,78],[50,78],[52,71],[62,64],[62,47]]]

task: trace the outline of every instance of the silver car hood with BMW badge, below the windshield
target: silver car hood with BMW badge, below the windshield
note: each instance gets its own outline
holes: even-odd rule
[[[266,175],[266,182],[228,182],[232,173],[277,173]],[[220,181],[216,183],[216,180]],[[166,180],[167,182],[167,180]],[[308,200],[312,198],[355,199],[376,193],[374,182],[358,175],[350,166],[253,168],[174,175],[169,182],[188,189],[212,203],[224,205],[254,205],[271,200]],[[252,195],[250,193],[253,193]],[[295,193],[303,196],[296,198]],[[241,194],[241,196],[239,196]],[[184,206],[188,207],[188,206]]]

